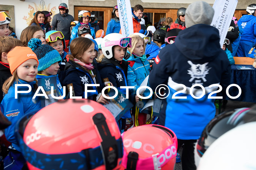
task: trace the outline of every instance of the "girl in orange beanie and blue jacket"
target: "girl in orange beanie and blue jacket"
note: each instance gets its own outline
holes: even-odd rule
[[[3,84],[4,99],[1,102],[1,111],[12,124],[5,129],[6,139],[12,143],[12,146],[20,151],[15,139],[14,131],[16,122],[26,113],[41,109],[41,100],[37,96],[33,99],[37,89],[37,66],[38,59],[35,53],[29,47],[15,47],[8,53],[12,76]],[[23,93],[16,95],[17,90]]]

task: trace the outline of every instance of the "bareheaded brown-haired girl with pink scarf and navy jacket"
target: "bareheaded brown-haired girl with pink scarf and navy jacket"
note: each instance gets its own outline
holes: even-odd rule
[[[82,98],[87,96],[87,99],[98,103],[108,103],[108,100],[103,98],[100,93],[104,84],[98,70],[92,64],[96,57],[93,41],[85,37],[75,38],[70,44],[70,51],[72,55],[69,55],[69,60],[66,63],[65,76],[60,78],[61,84],[68,88],[66,91],[69,91],[72,86],[70,93],[73,96],[82,96]],[[95,84],[95,86],[87,87],[88,91],[94,90],[94,92],[85,91],[85,84]]]

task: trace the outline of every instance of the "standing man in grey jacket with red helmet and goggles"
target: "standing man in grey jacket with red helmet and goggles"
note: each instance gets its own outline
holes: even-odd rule
[[[67,47],[70,40],[70,24],[74,21],[74,17],[68,14],[68,6],[65,3],[59,5],[60,13],[53,16],[52,19],[52,30],[60,31],[65,37],[66,48],[65,51],[68,52]]]

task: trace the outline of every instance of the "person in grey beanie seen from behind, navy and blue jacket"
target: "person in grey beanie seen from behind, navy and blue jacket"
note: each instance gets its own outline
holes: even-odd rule
[[[213,15],[214,9],[204,1],[190,4],[186,10],[187,28],[179,32],[175,43],[166,45],[160,51],[149,76],[153,91],[159,84],[166,84],[170,89],[169,96],[164,100],[167,104],[164,104],[166,108],[160,114],[159,124],[175,132],[177,150],[184,144],[183,170],[196,169],[195,142],[215,116],[214,99],[208,99],[208,95],[218,87],[208,86],[220,84],[222,92],[225,92],[230,82],[229,60],[220,48],[219,31],[210,26]],[[192,89],[193,85],[197,86]],[[183,89],[187,91],[180,91]],[[174,95],[177,91],[178,94]],[[195,96],[192,97],[189,91]],[[185,99],[173,99],[174,96]],[[195,99],[196,96],[202,98]]]

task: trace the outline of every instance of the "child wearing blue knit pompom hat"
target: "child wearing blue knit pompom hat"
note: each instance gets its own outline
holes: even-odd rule
[[[55,84],[55,88],[58,88],[58,96],[63,96],[63,88],[57,75],[60,68],[59,62],[61,62],[60,54],[53,47],[41,44],[41,40],[37,38],[32,38],[28,43],[28,46],[37,55],[37,59],[39,60],[38,74],[36,78],[43,79],[47,77],[56,77],[57,84]],[[44,107],[43,104],[42,107]]]

